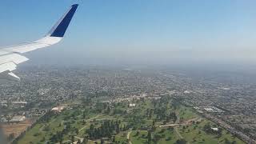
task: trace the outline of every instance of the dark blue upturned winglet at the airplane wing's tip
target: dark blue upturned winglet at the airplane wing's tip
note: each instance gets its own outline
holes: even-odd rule
[[[72,5],[47,35],[50,37],[63,37],[77,8],[78,4]]]

